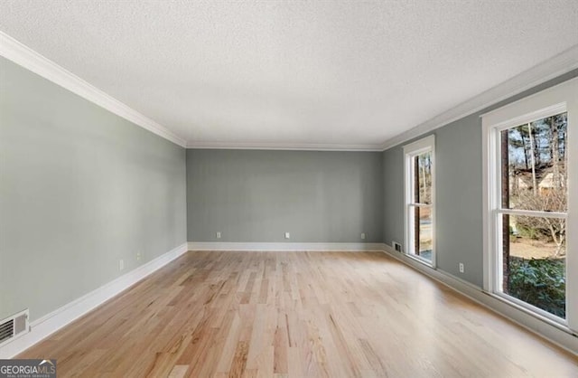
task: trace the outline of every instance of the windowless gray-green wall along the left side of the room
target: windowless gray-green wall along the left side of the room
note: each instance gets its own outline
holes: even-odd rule
[[[0,85],[0,318],[42,317],[186,241],[184,148],[4,58]]]

